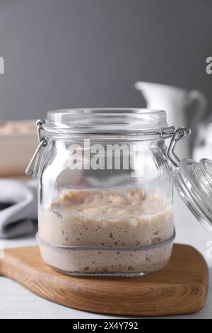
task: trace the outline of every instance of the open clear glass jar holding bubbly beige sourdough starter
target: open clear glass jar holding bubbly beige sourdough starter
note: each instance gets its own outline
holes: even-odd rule
[[[175,239],[165,111],[49,111],[37,127],[26,172],[35,164],[43,260],[84,276],[163,269]]]

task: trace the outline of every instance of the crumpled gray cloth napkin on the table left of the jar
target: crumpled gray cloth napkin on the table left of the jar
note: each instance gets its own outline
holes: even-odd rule
[[[0,179],[0,238],[37,230],[37,180]]]

